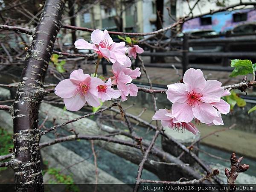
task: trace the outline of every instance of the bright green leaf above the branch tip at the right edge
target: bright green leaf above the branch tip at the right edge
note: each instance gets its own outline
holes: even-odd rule
[[[241,59],[233,59],[231,60],[231,67],[235,67],[235,69],[230,74],[230,77],[235,77],[239,75],[247,75],[249,73],[253,73],[253,64],[250,60],[241,60]]]

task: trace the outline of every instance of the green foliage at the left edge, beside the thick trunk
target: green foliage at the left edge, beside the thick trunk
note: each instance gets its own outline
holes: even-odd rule
[[[13,148],[12,134],[9,134],[3,128],[0,128],[0,155],[9,154],[10,150]],[[6,167],[1,167],[1,170],[7,169]]]

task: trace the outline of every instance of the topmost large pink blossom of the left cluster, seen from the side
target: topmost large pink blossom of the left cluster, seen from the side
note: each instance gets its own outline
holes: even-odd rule
[[[84,39],[79,39],[75,42],[75,46],[77,49],[94,50],[98,53],[99,57],[104,57],[108,61],[111,61],[111,63],[119,61],[122,64],[125,62],[125,52],[128,49],[125,47],[125,42],[113,42],[106,29],[104,31],[99,29],[94,30],[91,34],[91,41],[93,44],[88,43]]]

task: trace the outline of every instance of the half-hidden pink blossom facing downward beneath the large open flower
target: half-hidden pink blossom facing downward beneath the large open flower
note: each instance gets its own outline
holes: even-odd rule
[[[192,132],[193,134],[198,134],[199,131],[198,129],[195,127],[195,125],[191,122],[180,122],[177,119],[175,119],[175,117],[172,114],[172,111],[167,110],[167,109],[159,109],[154,116],[152,117],[153,120],[161,120],[161,124],[163,125],[163,127],[169,127],[171,129],[176,129],[176,130],[180,130],[180,129],[186,129],[190,132]]]

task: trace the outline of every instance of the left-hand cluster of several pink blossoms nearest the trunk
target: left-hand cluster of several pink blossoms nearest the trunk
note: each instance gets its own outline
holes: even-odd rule
[[[125,101],[129,94],[137,96],[138,88],[131,81],[139,77],[141,72],[139,67],[135,70],[128,68],[131,67],[131,60],[125,55],[128,49],[125,42],[115,43],[107,30],[99,29],[92,32],[91,41],[93,44],[79,39],[75,46],[77,49],[93,49],[99,58],[112,62],[113,77],[103,81],[98,77],[84,74],[82,69],[74,70],[69,79],[64,79],[55,87],[55,94],[64,99],[65,106],[70,111],[78,111],[86,102],[98,107],[100,101],[105,102],[120,96],[122,101]],[[118,90],[114,90],[113,85],[116,85]]]

